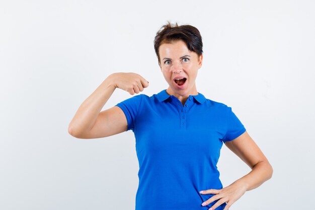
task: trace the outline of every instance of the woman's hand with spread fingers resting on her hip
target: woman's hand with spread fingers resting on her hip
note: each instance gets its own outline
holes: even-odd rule
[[[246,186],[242,182],[233,182],[232,184],[222,189],[208,189],[202,190],[200,194],[215,194],[208,200],[204,201],[201,205],[205,206],[209,203],[218,200],[209,209],[214,210],[216,207],[226,202],[226,206],[223,210],[227,210],[235,201],[237,201],[246,192]]]

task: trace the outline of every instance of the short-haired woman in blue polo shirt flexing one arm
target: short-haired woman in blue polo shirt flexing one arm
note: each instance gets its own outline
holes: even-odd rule
[[[198,29],[164,25],[154,48],[167,90],[136,95],[100,112],[116,88],[134,95],[148,87],[138,74],[114,73],[83,102],[68,132],[77,138],[134,132],[139,161],[136,210],[227,210],[246,191],[270,179],[273,169],[231,108],[197,92],[203,58]],[[224,188],[216,168],[223,143],[252,169]]]

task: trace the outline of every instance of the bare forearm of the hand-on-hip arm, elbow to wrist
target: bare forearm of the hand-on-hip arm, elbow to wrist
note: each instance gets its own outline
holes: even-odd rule
[[[252,171],[235,182],[242,183],[246,191],[255,189],[271,178],[273,169],[268,161],[257,163]]]

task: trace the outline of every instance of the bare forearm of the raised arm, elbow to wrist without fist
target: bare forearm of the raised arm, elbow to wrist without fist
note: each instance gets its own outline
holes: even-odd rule
[[[69,123],[69,133],[86,132],[93,127],[103,106],[116,89],[111,76],[112,75],[106,78],[78,108]]]

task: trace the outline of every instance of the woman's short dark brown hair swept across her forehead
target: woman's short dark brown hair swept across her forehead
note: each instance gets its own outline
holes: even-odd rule
[[[154,50],[157,59],[160,63],[159,48],[164,43],[171,43],[172,41],[182,40],[186,43],[187,48],[190,51],[196,52],[198,57],[202,55],[202,38],[199,30],[191,25],[181,25],[168,24],[161,27],[159,31],[156,32],[154,38]]]

